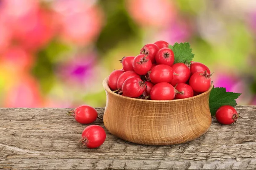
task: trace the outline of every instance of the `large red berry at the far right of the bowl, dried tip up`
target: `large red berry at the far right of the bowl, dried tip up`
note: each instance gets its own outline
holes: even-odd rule
[[[205,72],[197,72],[192,74],[189,79],[189,85],[195,92],[205,92],[211,86],[211,74]]]

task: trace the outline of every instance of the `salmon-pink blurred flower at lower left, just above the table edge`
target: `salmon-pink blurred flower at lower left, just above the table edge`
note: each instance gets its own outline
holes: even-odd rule
[[[23,77],[7,91],[4,107],[36,108],[41,107],[41,104],[38,83],[32,77]]]

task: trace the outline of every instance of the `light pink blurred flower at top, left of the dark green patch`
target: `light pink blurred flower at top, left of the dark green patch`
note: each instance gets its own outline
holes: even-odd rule
[[[67,42],[87,45],[102,28],[102,10],[92,0],[56,0],[53,8],[61,24],[61,37]]]

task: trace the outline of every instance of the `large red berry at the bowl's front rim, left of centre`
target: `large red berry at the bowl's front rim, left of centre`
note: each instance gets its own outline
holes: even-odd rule
[[[122,85],[122,92],[127,97],[139,97],[145,91],[145,84],[139,77],[130,77]]]

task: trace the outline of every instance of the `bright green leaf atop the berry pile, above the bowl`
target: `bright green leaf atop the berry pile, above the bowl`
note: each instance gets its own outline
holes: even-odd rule
[[[194,58],[195,54],[192,53],[192,48],[190,48],[189,42],[184,42],[180,44],[175,42],[173,47],[170,47],[169,45],[169,48],[171,48],[172,51],[174,52],[174,58],[175,58],[174,63],[177,63],[177,62],[190,63]]]

